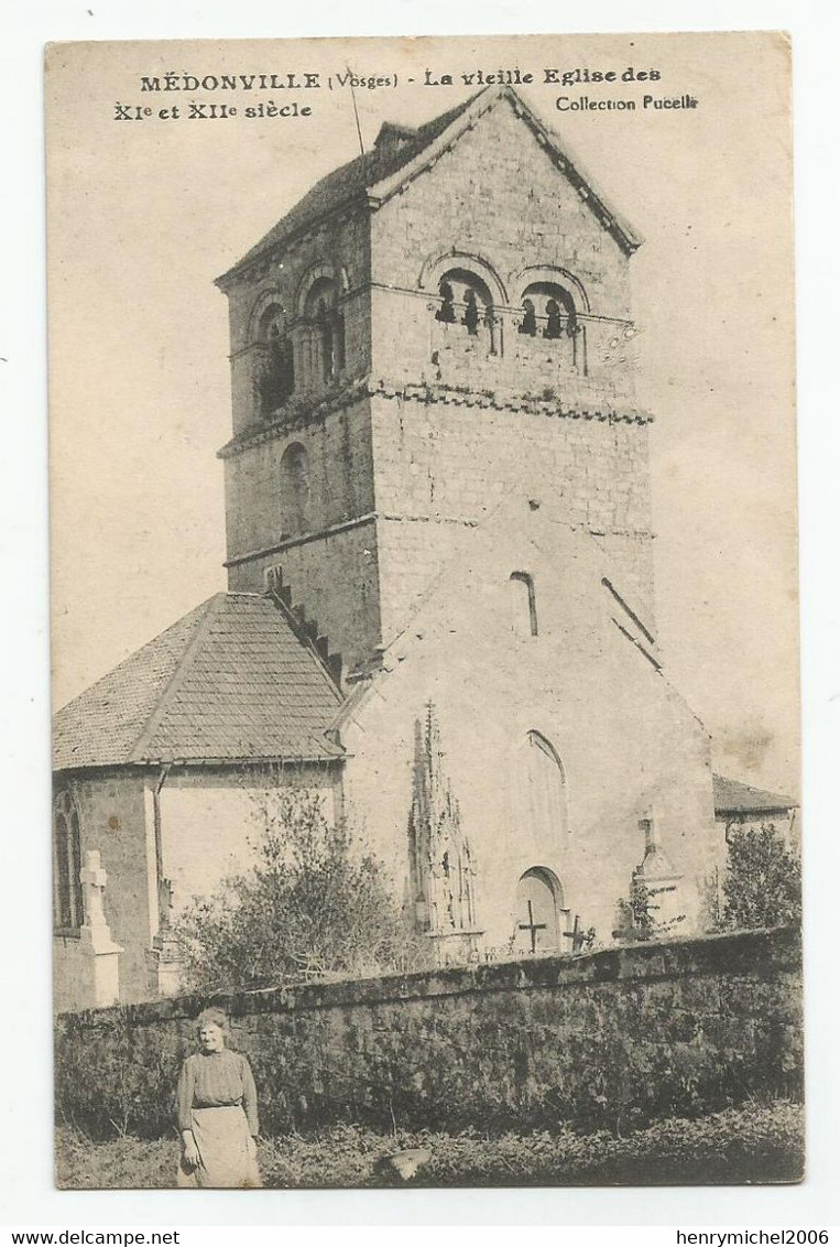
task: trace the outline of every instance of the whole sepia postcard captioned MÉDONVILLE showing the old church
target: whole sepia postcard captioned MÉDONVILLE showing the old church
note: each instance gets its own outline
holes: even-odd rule
[[[788,37],[46,111],[59,1186],[799,1181]]]

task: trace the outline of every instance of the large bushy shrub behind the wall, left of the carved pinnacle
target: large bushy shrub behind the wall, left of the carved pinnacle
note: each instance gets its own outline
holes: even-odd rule
[[[391,899],[381,865],[317,794],[277,791],[254,806],[254,864],[194,900],[174,925],[183,985],[236,990],[413,969],[425,945]]]

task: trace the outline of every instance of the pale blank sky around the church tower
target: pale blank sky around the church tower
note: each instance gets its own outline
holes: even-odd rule
[[[653,412],[658,624],[669,678],[715,768],[799,791],[788,46],[779,35],[546,36],[308,44],[75,45],[47,72],[54,698],[62,705],[224,587],[229,436],[224,297],[213,278],[358,152],[346,90],[288,92],[310,118],[115,121],[156,108],[141,75],[348,62],[368,146],[518,67],[522,94],[642,234],[637,382]],[[659,71],[561,87],[545,69]],[[408,77],[418,81],[409,84]],[[644,94],[697,108],[642,110]],[[636,112],[557,111],[560,95]],[[279,100],[280,92],[260,99]],[[202,99],[211,99],[202,96]],[[216,94],[217,102],[233,101]],[[248,104],[253,102],[248,99]]]

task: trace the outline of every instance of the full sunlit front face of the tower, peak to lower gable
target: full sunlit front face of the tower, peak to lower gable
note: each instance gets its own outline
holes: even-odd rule
[[[533,147],[527,180],[523,146]],[[485,283],[491,328],[470,334],[460,304],[455,323],[437,319],[450,269]],[[465,521],[546,476],[570,520],[601,535],[651,621],[648,425],[632,418],[628,257],[508,101],[371,216],[371,277],[373,377],[394,394],[371,400],[376,508],[389,518],[384,638],[464,546]],[[576,338],[547,339],[542,322],[533,337],[520,332],[523,291],[551,277],[575,297]]]

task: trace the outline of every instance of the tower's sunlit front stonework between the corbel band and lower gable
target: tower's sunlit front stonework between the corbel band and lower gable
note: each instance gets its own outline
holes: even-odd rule
[[[420,398],[376,397],[371,407],[386,641],[475,525],[528,483],[537,500],[599,535],[652,626],[648,425]]]

